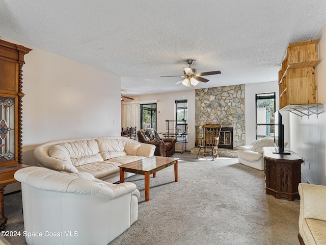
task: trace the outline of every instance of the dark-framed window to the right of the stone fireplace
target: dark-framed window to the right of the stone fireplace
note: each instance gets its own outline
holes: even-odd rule
[[[256,94],[256,139],[274,138],[275,93]]]

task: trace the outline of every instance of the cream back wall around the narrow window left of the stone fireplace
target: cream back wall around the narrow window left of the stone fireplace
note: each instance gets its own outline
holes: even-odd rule
[[[182,86],[182,85],[180,85]],[[195,146],[195,90],[178,91],[172,93],[156,93],[141,96],[132,96],[137,101],[152,101],[157,100],[157,132],[166,132],[166,121],[174,120],[175,100],[188,100],[188,127],[190,135],[186,145],[187,151],[190,151]],[[123,114],[123,113],[122,113]],[[181,150],[182,144],[177,143],[176,150]]]

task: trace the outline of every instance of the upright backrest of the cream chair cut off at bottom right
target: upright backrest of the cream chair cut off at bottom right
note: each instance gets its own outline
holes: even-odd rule
[[[305,218],[326,221],[326,186],[299,183],[300,215],[299,230]]]

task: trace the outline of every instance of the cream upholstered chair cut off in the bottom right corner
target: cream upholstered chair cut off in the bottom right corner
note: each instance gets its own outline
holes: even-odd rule
[[[326,244],[326,186],[300,183],[299,234],[301,244]]]

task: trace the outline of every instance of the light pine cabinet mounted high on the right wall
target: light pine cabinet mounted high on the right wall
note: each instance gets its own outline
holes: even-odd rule
[[[318,41],[288,45],[279,71],[280,109],[288,105],[316,104]]]

